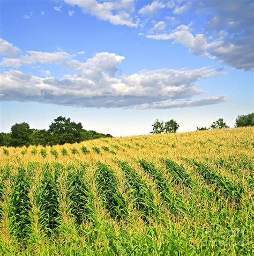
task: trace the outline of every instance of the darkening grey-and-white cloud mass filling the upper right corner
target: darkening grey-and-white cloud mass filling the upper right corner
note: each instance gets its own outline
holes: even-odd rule
[[[185,5],[175,13],[186,10]],[[194,5],[193,5],[194,6]],[[175,40],[193,54],[205,55],[240,70],[254,69],[254,4],[243,1],[199,1],[197,10],[207,13],[206,33],[192,32],[192,23],[180,25],[169,33],[151,33],[155,40]],[[213,16],[212,18],[209,18]]]

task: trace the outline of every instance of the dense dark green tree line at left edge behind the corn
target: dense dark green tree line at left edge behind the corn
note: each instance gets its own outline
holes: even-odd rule
[[[48,130],[32,129],[26,122],[16,123],[11,127],[11,133],[0,133],[0,146],[62,145],[104,137],[112,136],[85,130],[80,122],[72,122],[70,118],[58,116],[51,122]]]

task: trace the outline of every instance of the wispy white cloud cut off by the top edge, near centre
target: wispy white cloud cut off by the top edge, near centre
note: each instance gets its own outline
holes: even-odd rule
[[[114,25],[126,25],[137,27],[137,23],[132,20],[131,13],[135,11],[133,0],[118,1],[82,1],[82,0],[64,0],[70,5],[78,5],[84,12],[98,17],[100,20],[109,21]]]

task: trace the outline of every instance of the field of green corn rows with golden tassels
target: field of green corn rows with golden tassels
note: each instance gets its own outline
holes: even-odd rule
[[[0,148],[2,255],[252,255],[254,129]]]

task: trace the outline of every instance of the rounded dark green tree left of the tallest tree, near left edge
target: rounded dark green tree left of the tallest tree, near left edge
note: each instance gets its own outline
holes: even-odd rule
[[[11,145],[14,147],[28,146],[31,144],[32,129],[28,123],[16,123],[11,127]]]

